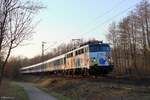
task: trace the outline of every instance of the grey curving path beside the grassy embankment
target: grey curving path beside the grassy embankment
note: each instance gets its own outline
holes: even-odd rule
[[[41,91],[40,89],[32,86],[29,83],[18,83],[18,84],[25,89],[29,97],[29,100],[57,100],[55,97],[50,96],[49,94]]]

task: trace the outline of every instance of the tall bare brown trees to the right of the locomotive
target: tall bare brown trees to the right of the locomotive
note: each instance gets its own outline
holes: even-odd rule
[[[115,74],[150,75],[150,2],[141,1],[127,17],[113,22],[107,40],[112,44]]]

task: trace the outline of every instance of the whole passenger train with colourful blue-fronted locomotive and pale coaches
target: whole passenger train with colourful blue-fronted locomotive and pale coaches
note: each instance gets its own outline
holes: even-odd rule
[[[20,73],[106,75],[113,68],[110,45],[102,41],[89,41],[47,61],[22,67]]]

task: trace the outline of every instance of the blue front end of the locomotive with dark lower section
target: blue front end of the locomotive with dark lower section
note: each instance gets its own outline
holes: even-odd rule
[[[110,46],[107,43],[89,45],[90,73],[108,74],[113,70]]]

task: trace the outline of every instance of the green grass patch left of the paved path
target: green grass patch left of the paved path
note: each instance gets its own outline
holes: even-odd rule
[[[0,87],[1,97],[12,97],[13,100],[28,100],[28,96],[24,89],[10,80],[3,80]]]

